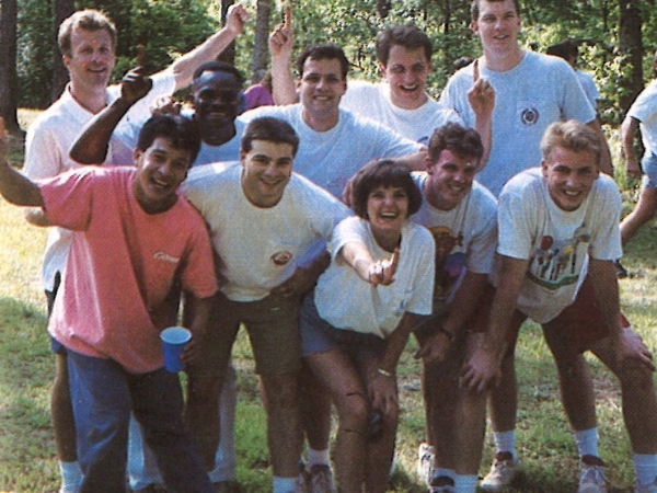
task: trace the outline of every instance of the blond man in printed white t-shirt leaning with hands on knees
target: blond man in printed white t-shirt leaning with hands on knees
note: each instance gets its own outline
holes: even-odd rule
[[[620,193],[613,180],[599,172],[601,148],[588,126],[554,123],[541,148],[541,168],[511,179],[499,196],[496,293],[484,342],[466,364],[463,382],[479,391],[494,385],[522,321],[540,323],[580,455],[579,491],[607,492],[592,379],[584,357],[590,351],[621,382],[635,492],[655,492],[655,367],[620,312],[613,265],[621,254]],[[570,390],[564,392],[565,387]]]

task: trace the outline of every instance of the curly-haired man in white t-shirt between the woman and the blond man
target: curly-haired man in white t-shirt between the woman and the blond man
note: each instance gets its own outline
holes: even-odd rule
[[[424,202],[411,220],[436,242],[434,313],[415,330],[427,422],[419,472],[430,492],[474,493],[485,436],[485,394],[459,386],[463,360],[486,329],[493,291],[496,199],[474,181],[483,152],[474,129],[450,123],[429,140],[427,171],[413,174]]]

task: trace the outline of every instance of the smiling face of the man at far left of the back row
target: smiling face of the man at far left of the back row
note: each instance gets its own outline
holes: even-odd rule
[[[64,55],[74,90],[105,89],[114,68],[114,46],[106,30],[71,32],[70,54]]]

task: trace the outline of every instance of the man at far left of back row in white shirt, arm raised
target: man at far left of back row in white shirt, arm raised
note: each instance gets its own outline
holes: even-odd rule
[[[194,50],[178,58],[162,72],[153,76],[153,90],[128,115],[127,121],[145,122],[149,105],[157,98],[170,95],[189,84],[194,69],[219,54],[241,32],[245,20],[242,7],[229,15],[231,22]],[[25,168],[31,179],[45,179],[74,169],[78,164],[69,156],[69,148],[85,123],[118,96],[118,87],[107,87],[115,64],[116,28],[95,10],[76,12],[65,20],[58,37],[70,82],[61,98],[32,124],[27,131]],[[127,122],[126,121],[126,122]],[[118,139],[110,142],[106,163],[130,163],[132,149]],[[48,226],[39,209],[30,209],[26,220],[36,226]],[[43,283],[51,306],[59,279],[64,273],[71,233],[62,228],[50,228],[44,255]],[[51,414],[55,443],[60,460],[64,493],[77,491],[80,469],[76,458],[76,438],[72,410],[68,391],[66,355],[57,353],[57,372],[53,388]]]

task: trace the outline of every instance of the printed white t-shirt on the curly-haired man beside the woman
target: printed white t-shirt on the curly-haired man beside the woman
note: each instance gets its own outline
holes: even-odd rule
[[[423,191],[426,172],[413,172],[413,181]],[[413,222],[427,228],[436,242],[435,297],[449,303],[470,271],[491,274],[497,246],[497,200],[477,182],[451,210],[440,210],[426,198],[411,216]]]

